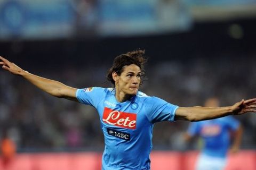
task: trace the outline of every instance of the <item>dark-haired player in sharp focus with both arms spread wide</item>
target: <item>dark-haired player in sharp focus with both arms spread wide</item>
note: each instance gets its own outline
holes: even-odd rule
[[[0,57],[3,69],[20,75],[52,96],[95,107],[105,137],[102,169],[150,169],[149,154],[156,122],[202,121],[227,115],[256,112],[256,99],[241,100],[227,107],[178,107],[139,91],[145,75],[143,50],[117,56],[107,79],[114,88],[76,89],[22,70]]]

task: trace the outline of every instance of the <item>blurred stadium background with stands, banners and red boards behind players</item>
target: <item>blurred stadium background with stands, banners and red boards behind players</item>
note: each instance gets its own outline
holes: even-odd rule
[[[0,0],[0,55],[72,87],[109,87],[114,57],[146,49],[141,91],[179,106],[217,96],[226,106],[256,96],[255,23],[255,0]],[[13,169],[100,169],[103,137],[92,107],[3,71],[0,94],[0,129],[17,145]],[[236,118],[245,128],[242,152],[230,155],[229,169],[255,169],[256,115]],[[200,145],[182,141],[187,125],[155,125],[153,170],[191,167]]]

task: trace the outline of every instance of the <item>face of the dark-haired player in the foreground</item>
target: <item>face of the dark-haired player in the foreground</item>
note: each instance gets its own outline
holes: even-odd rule
[[[119,92],[132,96],[137,94],[141,81],[141,70],[138,65],[125,66],[121,75],[117,75],[116,78]]]

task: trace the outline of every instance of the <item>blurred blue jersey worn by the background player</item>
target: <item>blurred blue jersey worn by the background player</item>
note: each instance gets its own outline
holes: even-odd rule
[[[230,146],[230,131],[235,131],[239,122],[232,116],[221,117],[213,120],[192,122],[188,134],[199,135],[204,140],[202,154],[225,158]]]

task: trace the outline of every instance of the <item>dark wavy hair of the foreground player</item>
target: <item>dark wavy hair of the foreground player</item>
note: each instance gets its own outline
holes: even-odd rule
[[[147,58],[143,56],[145,54],[145,50],[134,50],[132,52],[128,52],[125,54],[121,54],[114,59],[112,67],[107,72],[107,80],[110,81],[115,86],[115,81],[113,80],[112,73],[116,72],[117,75],[121,75],[123,72],[123,68],[126,65],[135,64],[140,67],[141,77],[145,78],[145,70],[144,66],[147,62]],[[143,83],[143,79],[141,79],[140,85]]]

